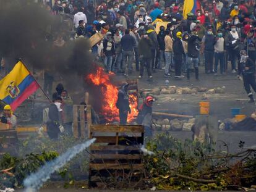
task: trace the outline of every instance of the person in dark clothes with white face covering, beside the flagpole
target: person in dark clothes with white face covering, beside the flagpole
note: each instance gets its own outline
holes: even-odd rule
[[[57,140],[59,133],[64,131],[64,127],[61,125],[62,117],[64,116],[61,104],[61,97],[53,94],[53,103],[49,106],[49,120],[46,123],[48,136],[52,140]]]

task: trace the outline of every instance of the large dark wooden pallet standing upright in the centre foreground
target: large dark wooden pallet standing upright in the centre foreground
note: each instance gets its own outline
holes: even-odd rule
[[[89,138],[96,138],[90,147],[89,186],[138,182],[143,173],[143,126],[90,125],[89,131]]]

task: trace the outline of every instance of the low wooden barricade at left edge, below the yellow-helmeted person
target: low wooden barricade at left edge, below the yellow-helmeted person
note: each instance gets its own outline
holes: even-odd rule
[[[15,128],[0,130],[0,156],[6,152],[17,154],[17,131]]]

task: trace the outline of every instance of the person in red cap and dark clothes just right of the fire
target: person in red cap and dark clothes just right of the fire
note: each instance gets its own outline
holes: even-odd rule
[[[152,131],[152,106],[153,106],[153,98],[151,96],[147,96],[143,104],[139,108],[139,114],[137,117],[137,123],[139,125],[143,125],[145,128],[145,136],[151,138],[153,135]]]

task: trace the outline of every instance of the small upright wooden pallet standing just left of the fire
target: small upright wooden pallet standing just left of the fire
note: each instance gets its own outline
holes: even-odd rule
[[[84,105],[73,106],[73,133],[75,138],[87,138],[87,133],[85,132]]]

